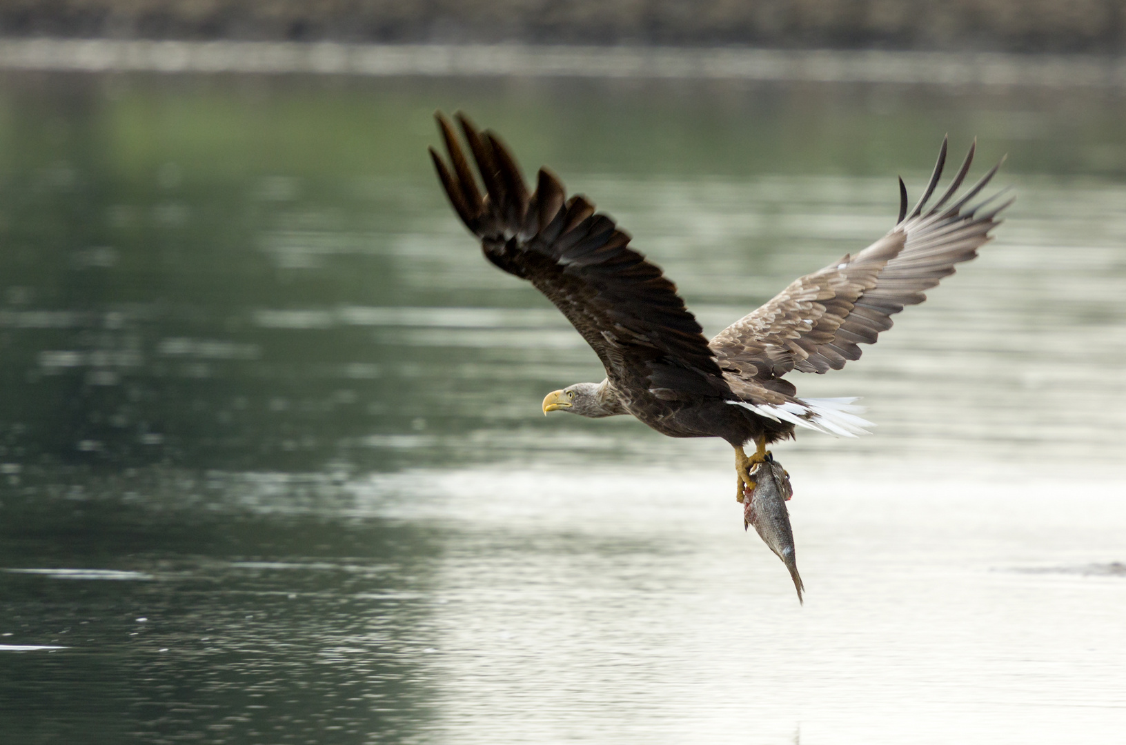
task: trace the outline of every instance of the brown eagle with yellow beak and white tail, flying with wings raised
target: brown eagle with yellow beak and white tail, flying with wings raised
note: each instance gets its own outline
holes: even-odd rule
[[[1011,204],[974,206],[994,165],[955,199],[974,146],[946,191],[927,205],[946,162],[946,140],[922,198],[908,210],[900,179],[900,216],[882,239],[856,255],[795,279],[757,311],[708,341],[676,285],[629,248],[629,235],[584,196],[539,169],[528,191],[516,160],[492,132],[456,115],[477,179],[449,120],[436,114],[449,162],[434,150],[446,196],[485,258],[547,296],[606,367],[601,383],[553,391],[543,410],[582,416],[633,414],[669,437],[718,437],[735,449],[736,499],[756,484],[751,468],[766,446],[794,437],[796,427],[855,437],[869,425],[849,398],[798,398],[784,376],[839,370],[892,327],[891,316],[927,299],[923,290],[977,255]],[[753,455],[744,446],[754,442]]]

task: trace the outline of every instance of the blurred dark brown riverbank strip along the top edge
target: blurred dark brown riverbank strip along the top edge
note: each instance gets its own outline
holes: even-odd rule
[[[1117,0],[0,0],[0,36],[1126,51]]]

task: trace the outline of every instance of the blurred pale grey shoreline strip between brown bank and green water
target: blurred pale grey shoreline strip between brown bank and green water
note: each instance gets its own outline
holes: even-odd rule
[[[3,39],[0,70],[1126,88],[1126,57],[1111,55],[511,43]]]

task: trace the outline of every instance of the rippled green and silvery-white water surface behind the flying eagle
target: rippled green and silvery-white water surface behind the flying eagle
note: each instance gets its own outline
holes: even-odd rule
[[[429,172],[465,107],[707,332],[894,219],[1018,201],[775,452],[539,413],[597,360]],[[0,79],[0,738],[1058,743],[1126,730],[1126,106],[1105,93]]]

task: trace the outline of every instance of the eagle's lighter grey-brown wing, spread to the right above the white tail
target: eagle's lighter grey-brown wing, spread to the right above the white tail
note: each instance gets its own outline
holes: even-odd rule
[[[739,393],[739,380],[772,385],[776,376],[839,370],[859,359],[857,344],[874,344],[892,327],[891,316],[927,299],[922,290],[953,275],[954,264],[977,255],[990,240],[994,219],[1012,200],[984,209],[966,204],[985,188],[1000,163],[954,204],[947,205],[969,170],[974,146],[954,181],[932,207],[923,207],[946,162],[946,140],[926,194],[908,214],[900,180],[900,219],[892,231],[855,257],[846,254],[824,269],[794,280],[771,300],[721,331],[712,340],[720,366]],[[778,382],[781,383],[781,382]],[[774,384],[776,385],[776,384]]]

